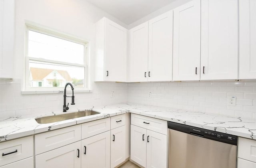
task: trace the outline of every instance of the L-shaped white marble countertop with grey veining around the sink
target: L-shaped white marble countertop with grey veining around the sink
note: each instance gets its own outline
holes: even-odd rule
[[[104,107],[91,107],[90,109],[100,112],[97,115],[80,117],[49,124],[38,124],[38,117],[58,115],[62,113],[46,113],[44,115],[24,115],[20,117],[9,117],[0,119],[0,142],[28,136],[41,132],[86,123],[98,119],[112,117],[124,113],[134,113],[148,117],[154,117],[175,123],[215,130],[227,134],[233,134],[244,138],[256,139],[256,120],[242,119],[240,117],[225,117],[220,115],[186,111],[182,109],[171,109],[134,103],[119,103]],[[84,110],[80,110],[84,111]],[[71,112],[67,112],[71,113]]]

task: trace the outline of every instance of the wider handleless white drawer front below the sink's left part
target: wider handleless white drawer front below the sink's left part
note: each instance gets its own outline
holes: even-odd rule
[[[35,135],[35,153],[40,154],[81,140],[81,125]]]

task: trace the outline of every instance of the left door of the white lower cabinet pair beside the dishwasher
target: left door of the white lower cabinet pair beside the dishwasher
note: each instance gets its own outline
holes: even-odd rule
[[[146,129],[131,125],[131,160],[146,167]]]

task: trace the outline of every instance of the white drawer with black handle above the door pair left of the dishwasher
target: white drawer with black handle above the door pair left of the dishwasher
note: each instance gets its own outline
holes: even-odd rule
[[[131,124],[167,135],[167,121],[131,114]]]

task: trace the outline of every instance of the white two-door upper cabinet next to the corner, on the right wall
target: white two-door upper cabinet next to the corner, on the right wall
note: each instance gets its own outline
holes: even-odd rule
[[[172,80],[173,11],[130,32],[129,82]]]

